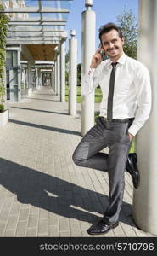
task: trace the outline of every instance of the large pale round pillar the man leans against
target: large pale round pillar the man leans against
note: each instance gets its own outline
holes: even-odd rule
[[[137,226],[157,235],[157,1],[139,1],[139,38],[137,59],[149,68],[153,106],[149,120],[137,134],[137,166],[141,175],[133,194],[133,218]]]

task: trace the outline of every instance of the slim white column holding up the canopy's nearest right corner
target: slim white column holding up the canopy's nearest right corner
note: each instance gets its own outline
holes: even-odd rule
[[[65,101],[65,41],[60,44],[60,102]]]

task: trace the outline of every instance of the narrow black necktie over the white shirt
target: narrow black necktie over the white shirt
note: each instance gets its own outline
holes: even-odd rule
[[[114,96],[114,85],[115,85],[115,67],[118,62],[112,62],[112,71],[110,73],[109,81],[109,95],[108,95],[108,109],[107,109],[107,120],[112,120],[112,108],[113,108],[113,96]]]

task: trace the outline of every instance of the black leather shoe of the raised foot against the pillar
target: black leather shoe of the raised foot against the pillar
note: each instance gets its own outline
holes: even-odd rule
[[[138,188],[140,174],[137,170],[137,154],[130,153],[128,155],[127,163],[126,163],[126,171],[129,172],[132,176],[132,182],[135,189]]]

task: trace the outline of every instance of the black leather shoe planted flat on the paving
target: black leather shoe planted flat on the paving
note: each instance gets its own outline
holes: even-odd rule
[[[108,233],[109,230],[115,229],[119,225],[119,222],[115,222],[115,224],[107,224],[101,219],[98,224],[93,224],[88,230],[87,233],[89,235],[101,235]]]

